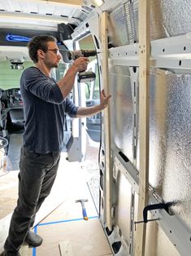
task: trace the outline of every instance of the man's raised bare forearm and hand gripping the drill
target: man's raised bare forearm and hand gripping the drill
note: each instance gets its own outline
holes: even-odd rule
[[[71,92],[72,87],[75,82],[76,73],[84,71],[88,66],[88,58],[80,57],[76,59],[72,66],[68,68],[65,76],[57,82],[59,89],[62,92],[63,99],[67,97],[67,95]]]

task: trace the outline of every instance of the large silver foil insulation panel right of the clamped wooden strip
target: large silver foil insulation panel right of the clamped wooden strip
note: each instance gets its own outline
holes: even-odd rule
[[[190,84],[191,75],[176,75],[156,68],[151,70],[150,185],[164,201],[178,202],[172,210],[189,227],[191,227]]]

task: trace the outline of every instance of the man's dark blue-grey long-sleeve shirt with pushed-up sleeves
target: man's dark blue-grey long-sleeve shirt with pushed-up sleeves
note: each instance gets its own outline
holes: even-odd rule
[[[60,152],[64,114],[76,117],[76,105],[70,99],[63,99],[54,79],[46,77],[36,67],[24,70],[20,91],[24,101],[24,147],[42,154]]]

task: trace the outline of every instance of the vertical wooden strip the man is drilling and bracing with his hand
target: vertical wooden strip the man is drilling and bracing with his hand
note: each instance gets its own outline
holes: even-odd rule
[[[101,41],[102,41],[102,86],[106,95],[110,94],[108,82],[108,41],[107,41],[107,21],[108,14],[101,14]],[[104,110],[104,133],[105,133],[105,200],[104,209],[106,210],[106,226],[111,229],[111,118],[110,105]]]

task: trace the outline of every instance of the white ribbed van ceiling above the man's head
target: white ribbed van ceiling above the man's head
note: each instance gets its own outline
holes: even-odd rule
[[[77,26],[92,9],[82,0],[0,0],[1,28],[56,30],[59,23]]]

